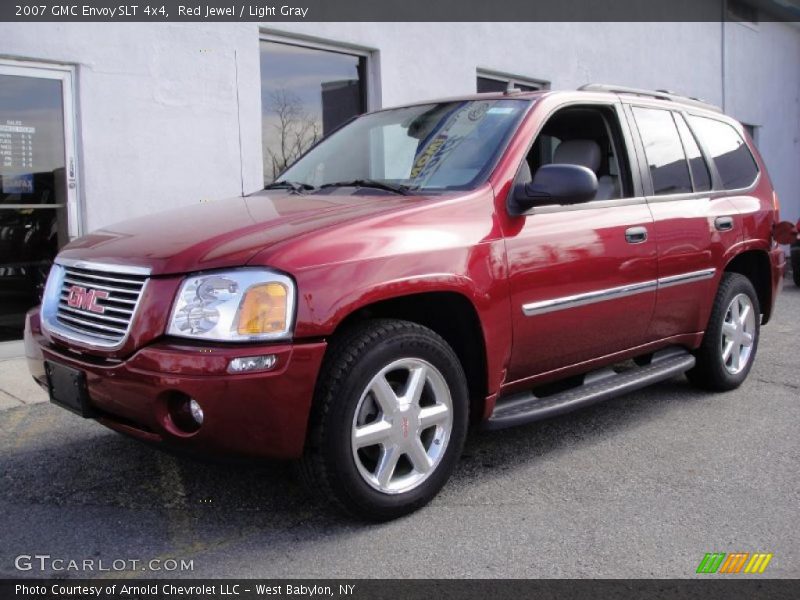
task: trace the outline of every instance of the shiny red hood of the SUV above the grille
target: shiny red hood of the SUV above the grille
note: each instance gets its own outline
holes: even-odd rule
[[[149,267],[153,275],[236,267],[287,239],[423,199],[263,191],[108,225],[70,243],[59,256]]]

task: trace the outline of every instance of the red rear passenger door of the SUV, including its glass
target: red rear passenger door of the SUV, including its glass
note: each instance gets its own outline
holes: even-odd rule
[[[651,340],[705,329],[728,249],[741,216],[718,193],[719,178],[687,122],[662,106],[628,105],[641,179],[653,214],[658,290]]]

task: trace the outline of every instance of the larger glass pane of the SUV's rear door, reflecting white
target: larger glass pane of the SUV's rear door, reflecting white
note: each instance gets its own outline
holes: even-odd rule
[[[689,167],[672,113],[658,108],[634,107],[655,195],[692,191]]]

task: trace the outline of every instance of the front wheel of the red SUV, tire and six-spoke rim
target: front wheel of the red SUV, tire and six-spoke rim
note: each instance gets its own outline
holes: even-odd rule
[[[407,514],[450,477],[468,407],[461,364],[439,335],[408,321],[367,321],[330,349],[301,472],[358,517]]]

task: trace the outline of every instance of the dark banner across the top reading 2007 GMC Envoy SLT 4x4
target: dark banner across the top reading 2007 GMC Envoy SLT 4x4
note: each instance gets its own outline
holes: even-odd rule
[[[3,0],[7,22],[798,21],[800,0]]]

